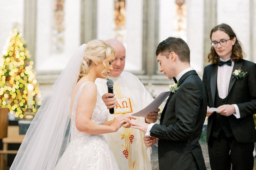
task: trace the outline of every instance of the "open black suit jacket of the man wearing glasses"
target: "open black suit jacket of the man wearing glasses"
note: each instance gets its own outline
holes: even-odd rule
[[[241,118],[237,119],[233,114],[228,116],[232,133],[238,142],[256,142],[256,130],[253,114],[256,113],[256,64],[247,60],[235,62],[233,71],[242,69],[248,72],[246,77],[236,79],[230,77],[227,94],[227,104],[236,104]],[[211,64],[204,68],[203,83],[207,90],[207,102],[210,108],[214,107],[215,93],[217,88],[218,65]],[[232,71],[232,72],[233,72]],[[212,133],[215,116],[213,113],[208,118],[207,142]]]

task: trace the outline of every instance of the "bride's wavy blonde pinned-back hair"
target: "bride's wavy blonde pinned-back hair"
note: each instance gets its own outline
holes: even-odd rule
[[[88,73],[89,66],[93,62],[103,62],[103,65],[105,65],[105,61],[108,60],[112,52],[116,56],[115,49],[103,40],[91,40],[88,42],[81,62],[78,80]]]

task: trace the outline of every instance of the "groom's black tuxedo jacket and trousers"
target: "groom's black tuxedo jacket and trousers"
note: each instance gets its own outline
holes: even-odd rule
[[[160,125],[153,125],[151,136],[159,139],[160,170],[206,170],[198,143],[207,111],[207,95],[195,70],[179,80],[163,109]]]

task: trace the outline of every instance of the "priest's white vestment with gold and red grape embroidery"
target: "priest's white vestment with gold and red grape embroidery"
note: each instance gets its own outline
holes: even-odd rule
[[[114,116],[136,113],[153,101],[140,79],[133,74],[123,71],[117,78],[108,78],[114,82],[113,91],[117,99],[114,114],[109,114],[108,120],[113,120]],[[95,81],[101,95],[108,93],[106,82],[106,79]],[[145,117],[137,117],[137,119],[145,121]],[[120,170],[151,170],[151,148],[145,146],[142,131],[121,127],[117,132],[104,136]]]

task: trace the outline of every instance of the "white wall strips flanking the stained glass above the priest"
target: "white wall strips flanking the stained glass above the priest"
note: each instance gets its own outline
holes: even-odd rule
[[[113,0],[99,0],[97,11],[97,39],[108,40],[115,37]],[[128,0],[126,3],[126,30],[124,34],[126,47],[126,71],[142,70],[142,27],[143,0]]]

